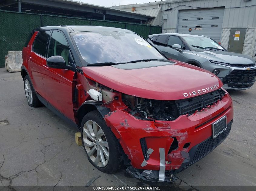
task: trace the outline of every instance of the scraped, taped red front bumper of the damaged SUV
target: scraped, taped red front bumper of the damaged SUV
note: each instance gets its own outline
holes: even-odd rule
[[[203,158],[228,136],[230,129],[224,131],[224,137],[218,136],[221,140],[211,138],[211,124],[223,116],[227,116],[231,128],[233,105],[228,94],[209,108],[173,121],[137,119],[119,109],[108,113],[105,121],[130,160],[129,174],[153,182],[172,182],[176,180],[173,173]],[[198,150],[207,140],[211,147]]]

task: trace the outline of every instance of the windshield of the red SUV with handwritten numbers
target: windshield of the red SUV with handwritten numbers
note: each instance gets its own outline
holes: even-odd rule
[[[72,35],[82,58],[88,63],[165,59],[146,40],[135,33],[93,31]]]

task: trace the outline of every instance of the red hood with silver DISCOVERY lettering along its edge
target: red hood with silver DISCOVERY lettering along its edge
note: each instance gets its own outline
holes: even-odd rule
[[[113,66],[83,67],[83,72],[85,77],[108,88],[154,100],[194,97],[215,91],[223,85],[211,72],[184,62],[139,69],[119,69]]]

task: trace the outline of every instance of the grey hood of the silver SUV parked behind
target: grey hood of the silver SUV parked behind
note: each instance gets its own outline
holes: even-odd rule
[[[192,51],[193,54],[204,56],[209,60],[224,62],[229,64],[254,64],[255,61],[246,55],[231,53],[228,51],[208,51],[208,50],[198,50]]]

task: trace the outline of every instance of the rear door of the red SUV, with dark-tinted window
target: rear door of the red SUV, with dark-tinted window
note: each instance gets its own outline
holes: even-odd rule
[[[34,33],[35,40],[31,50],[28,50],[28,70],[33,87],[37,94],[45,97],[43,85],[42,71],[43,61],[46,61],[47,42],[49,39],[50,30],[40,30]]]

